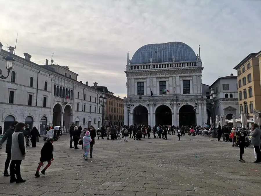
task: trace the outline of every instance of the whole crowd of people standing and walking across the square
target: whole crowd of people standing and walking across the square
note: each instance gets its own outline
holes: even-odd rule
[[[50,128],[50,127],[49,127]],[[130,125],[130,126],[102,126],[100,129],[98,128],[95,130],[93,125],[88,128],[82,129],[81,126],[77,127],[75,124],[72,124],[70,127],[70,147],[74,149],[79,149],[78,145],[82,147],[84,150],[83,157],[85,160],[88,160],[88,156],[93,158],[93,145],[95,144],[95,137],[99,136],[101,139],[107,136],[107,140],[114,140],[124,138],[124,141],[128,141],[128,139],[134,140],[141,140],[141,139],[151,139],[151,133],[153,133],[153,139],[168,139],[168,135],[176,135],[179,138],[185,136],[187,133],[188,135],[197,135],[197,134],[206,134],[208,135],[211,133],[213,128],[210,127],[201,127],[193,125],[189,126],[181,126],[176,127],[173,125],[159,125],[154,126],[151,128],[150,126],[145,125]],[[223,135],[223,141],[230,141],[232,142],[233,147],[240,148],[240,162],[245,162],[243,159],[244,148],[247,146],[246,138],[247,136],[251,136],[251,145],[254,147],[254,152],[256,156],[256,161],[254,163],[261,162],[261,131],[260,127],[257,124],[253,124],[249,133],[245,129],[239,129],[237,127],[231,126],[224,126],[221,127],[220,125],[215,130],[217,133],[218,141],[221,141],[221,137]],[[57,136],[61,132],[57,132]],[[120,135],[119,135],[120,134]],[[7,159],[5,162],[5,169],[4,169],[4,176],[10,176],[10,182],[21,183],[25,182],[24,179],[21,177],[20,165],[23,159],[25,159],[26,155],[26,147],[28,147],[28,143],[26,139],[31,136],[32,140],[32,147],[36,147],[37,137],[41,137],[39,131],[36,127],[33,127],[30,131],[30,126],[24,123],[14,122],[10,126],[10,128],[5,132],[3,138],[0,141],[0,149],[2,148],[2,144],[5,140],[6,143],[6,153]],[[120,137],[119,137],[120,136]],[[35,177],[39,177],[39,170],[41,167],[44,166],[44,162],[48,164],[46,167],[41,171],[43,175],[45,175],[46,169],[51,165],[51,161],[54,160],[52,151],[54,150],[54,146],[52,145],[53,138],[48,138],[47,141],[44,143],[44,146],[41,149],[41,158],[40,162],[38,163],[37,170],[35,173]],[[73,147],[74,142],[74,147]],[[11,163],[10,163],[11,161]],[[9,167],[10,163],[10,167]],[[8,174],[8,167],[10,169],[10,174]],[[16,176],[15,176],[16,175]]]

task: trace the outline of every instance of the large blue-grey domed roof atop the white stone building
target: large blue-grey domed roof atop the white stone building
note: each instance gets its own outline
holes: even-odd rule
[[[148,44],[139,48],[131,59],[131,64],[163,63],[195,61],[196,54],[187,44],[182,42],[168,42],[162,44]]]

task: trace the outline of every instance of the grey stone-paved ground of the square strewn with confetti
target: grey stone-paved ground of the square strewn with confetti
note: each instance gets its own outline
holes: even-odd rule
[[[163,139],[95,140],[93,159],[69,149],[69,136],[54,142],[54,161],[46,175],[35,178],[43,141],[26,148],[21,175],[26,182],[10,184],[0,176],[0,195],[253,195],[261,194],[261,164],[253,148],[239,162],[239,148],[204,136]],[[1,152],[3,171],[6,153]],[[46,164],[46,163],[45,163]]]

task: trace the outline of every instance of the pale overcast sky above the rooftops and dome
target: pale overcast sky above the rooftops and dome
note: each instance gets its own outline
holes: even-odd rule
[[[0,0],[0,40],[16,54],[68,65],[89,85],[126,95],[127,51],[179,41],[201,47],[203,83],[261,50],[260,0]],[[5,43],[6,42],[6,43]],[[5,47],[3,47],[6,49]],[[50,62],[50,61],[49,61]]]

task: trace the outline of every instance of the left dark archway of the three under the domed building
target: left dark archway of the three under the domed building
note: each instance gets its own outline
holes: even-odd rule
[[[145,106],[138,105],[133,109],[133,125],[148,125],[148,109]]]

